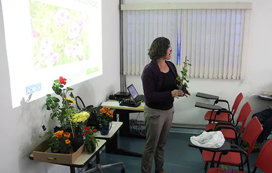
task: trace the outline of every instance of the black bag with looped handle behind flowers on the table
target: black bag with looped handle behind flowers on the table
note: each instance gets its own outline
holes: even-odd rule
[[[78,99],[81,101],[83,108],[79,106]],[[90,114],[90,117],[87,122],[87,126],[91,126],[97,130],[100,130],[100,109],[102,108],[102,106],[94,107],[93,105],[89,105],[86,107],[83,100],[80,98],[80,96],[76,96],[75,100],[76,100],[77,108],[80,111],[86,111]]]

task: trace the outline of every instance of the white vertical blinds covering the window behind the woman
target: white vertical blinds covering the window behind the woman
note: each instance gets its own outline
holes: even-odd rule
[[[240,79],[248,9],[158,9],[123,11],[124,75],[140,75],[157,37],[170,40],[178,71],[185,56],[191,78]],[[246,17],[247,16],[247,17]],[[244,44],[245,43],[245,44]]]

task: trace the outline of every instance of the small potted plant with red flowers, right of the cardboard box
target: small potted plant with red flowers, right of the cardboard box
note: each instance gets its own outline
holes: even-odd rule
[[[94,127],[85,127],[83,129],[83,137],[85,138],[85,147],[86,147],[86,151],[91,154],[95,151],[96,146],[98,146],[97,144],[97,139],[95,138],[95,131],[97,131],[96,129],[94,129]]]

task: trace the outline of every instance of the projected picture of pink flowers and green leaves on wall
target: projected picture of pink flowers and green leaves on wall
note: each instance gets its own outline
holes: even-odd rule
[[[89,59],[88,14],[30,0],[35,68]]]

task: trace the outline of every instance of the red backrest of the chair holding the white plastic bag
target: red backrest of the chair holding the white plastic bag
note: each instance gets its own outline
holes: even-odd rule
[[[247,151],[247,157],[249,158],[254,144],[259,137],[260,133],[263,131],[263,127],[259,122],[257,117],[253,117],[247,124],[246,129],[243,133],[242,140],[249,143],[249,149]]]

